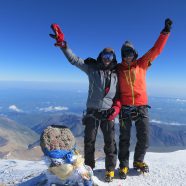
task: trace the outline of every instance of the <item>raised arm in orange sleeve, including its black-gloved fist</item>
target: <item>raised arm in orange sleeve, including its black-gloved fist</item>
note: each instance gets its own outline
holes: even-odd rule
[[[138,64],[143,68],[148,68],[153,60],[162,52],[167,39],[169,37],[172,21],[170,19],[165,20],[165,27],[161,31],[160,36],[155,42],[154,46],[141,58],[138,59]]]

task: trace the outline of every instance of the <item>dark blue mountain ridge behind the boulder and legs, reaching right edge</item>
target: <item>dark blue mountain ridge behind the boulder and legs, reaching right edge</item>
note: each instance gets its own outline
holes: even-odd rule
[[[41,122],[32,129],[41,134],[41,132],[51,124],[60,124],[68,126],[76,137],[83,137],[84,126],[82,118],[73,114],[55,115]],[[116,140],[118,141],[119,125],[116,124]],[[136,142],[135,127],[132,127],[131,144],[134,147]],[[99,130],[97,140],[102,141],[102,133]],[[152,149],[163,150],[163,148],[186,148],[186,125],[164,125],[150,122],[150,146]]]

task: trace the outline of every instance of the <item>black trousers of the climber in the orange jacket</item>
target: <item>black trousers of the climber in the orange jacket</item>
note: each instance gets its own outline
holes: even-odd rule
[[[139,106],[139,118],[135,121],[137,143],[134,152],[134,161],[143,162],[149,147],[149,118],[148,108]],[[129,167],[129,146],[132,120],[120,119],[119,154],[120,168]]]

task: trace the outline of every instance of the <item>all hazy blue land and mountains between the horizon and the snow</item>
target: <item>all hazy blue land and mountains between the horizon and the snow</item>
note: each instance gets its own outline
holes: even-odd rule
[[[6,82],[7,84],[7,82]],[[83,151],[84,126],[82,112],[86,108],[87,88],[78,85],[52,85],[43,89],[37,85],[16,88],[0,86],[0,158],[34,159],[40,157],[39,137],[51,124],[68,126],[76,136],[77,146]],[[174,151],[186,148],[186,99],[149,97],[149,151]],[[78,115],[79,114],[79,115]],[[116,141],[119,125],[116,123]],[[131,131],[131,150],[136,142],[135,127]],[[96,157],[103,151],[103,135],[98,130]]]

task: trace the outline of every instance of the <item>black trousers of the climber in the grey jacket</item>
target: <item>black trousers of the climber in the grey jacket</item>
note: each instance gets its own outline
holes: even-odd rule
[[[114,122],[108,120],[97,120],[95,117],[86,116],[83,124],[85,125],[85,136],[84,136],[84,156],[85,164],[95,167],[95,141],[98,131],[98,127],[103,132],[104,136],[104,152],[105,158],[105,168],[107,171],[112,171],[115,169],[117,160],[117,147],[115,142],[115,129]]]

